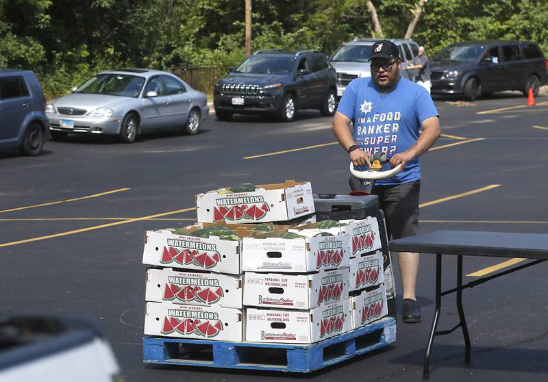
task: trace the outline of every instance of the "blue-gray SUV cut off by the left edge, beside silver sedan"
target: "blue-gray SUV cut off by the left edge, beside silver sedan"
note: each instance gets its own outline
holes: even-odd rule
[[[0,69],[0,147],[38,155],[49,138],[45,103],[32,71]]]

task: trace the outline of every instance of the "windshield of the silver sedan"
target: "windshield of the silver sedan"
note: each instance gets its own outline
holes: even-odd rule
[[[88,79],[75,93],[138,97],[145,84],[143,77],[125,74],[101,74]]]

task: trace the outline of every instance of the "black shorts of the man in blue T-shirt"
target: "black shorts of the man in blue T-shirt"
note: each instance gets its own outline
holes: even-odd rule
[[[360,190],[360,181],[350,178],[350,188]],[[388,238],[399,239],[419,233],[419,193],[421,181],[394,186],[373,186],[372,194],[379,196],[379,207],[386,216]]]

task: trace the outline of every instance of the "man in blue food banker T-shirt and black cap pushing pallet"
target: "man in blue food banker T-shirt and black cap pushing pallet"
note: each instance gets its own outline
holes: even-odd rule
[[[401,173],[379,180],[372,190],[379,196],[392,239],[419,232],[419,155],[440,136],[438,111],[429,94],[399,75],[401,61],[395,44],[373,44],[371,77],[354,79],[340,99],[332,129],[354,166],[371,164],[370,156],[384,152],[390,166],[401,164]],[[349,127],[353,122],[353,133]],[[424,131],[419,135],[419,129]],[[351,177],[352,190],[362,183]],[[419,253],[398,254],[403,285],[403,322],[420,322],[415,285]]]

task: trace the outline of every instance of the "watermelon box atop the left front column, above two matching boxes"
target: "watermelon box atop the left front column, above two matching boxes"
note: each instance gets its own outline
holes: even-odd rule
[[[240,275],[240,241],[175,235],[168,229],[147,231],[142,263]]]

